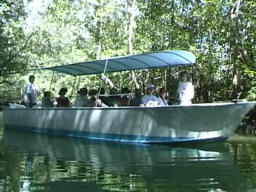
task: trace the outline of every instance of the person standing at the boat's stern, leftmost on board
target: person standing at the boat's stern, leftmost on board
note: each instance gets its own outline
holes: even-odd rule
[[[36,105],[36,96],[37,92],[34,87],[35,82],[35,76],[30,75],[29,76],[29,83],[26,85],[26,89],[23,95],[23,103],[26,107],[32,108],[34,105]]]

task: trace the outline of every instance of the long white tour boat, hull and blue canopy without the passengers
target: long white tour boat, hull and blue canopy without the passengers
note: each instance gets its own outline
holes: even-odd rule
[[[44,68],[91,75],[196,63],[187,51],[158,51]],[[225,141],[256,102],[164,107],[6,108],[6,129],[135,143]]]

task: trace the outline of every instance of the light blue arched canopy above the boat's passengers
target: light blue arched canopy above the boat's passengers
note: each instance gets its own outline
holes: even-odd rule
[[[107,62],[107,66],[106,65]],[[188,51],[157,51],[128,56],[118,56],[108,59],[85,61],[80,63],[47,67],[44,69],[61,72],[69,75],[92,75],[128,71],[133,69],[146,69],[157,67],[174,67],[178,65],[195,64],[195,55]]]

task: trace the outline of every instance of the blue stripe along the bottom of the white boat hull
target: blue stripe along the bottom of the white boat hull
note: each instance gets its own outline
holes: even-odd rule
[[[14,131],[29,131],[34,133],[45,133],[59,136],[72,136],[72,137],[83,137],[88,139],[101,139],[107,141],[120,141],[120,142],[133,142],[133,143],[181,143],[181,142],[217,142],[226,141],[228,137],[214,137],[206,139],[198,139],[192,137],[161,137],[161,136],[134,136],[134,135],[123,135],[123,134],[110,134],[110,133],[91,133],[85,131],[66,131],[56,130],[52,128],[32,128],[25,126],[6,125],[6,129]]]

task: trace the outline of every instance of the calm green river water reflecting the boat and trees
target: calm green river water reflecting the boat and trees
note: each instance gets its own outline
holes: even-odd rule
[[[256,142],[120,144],[4,130],[0,192],[256,191]]]

